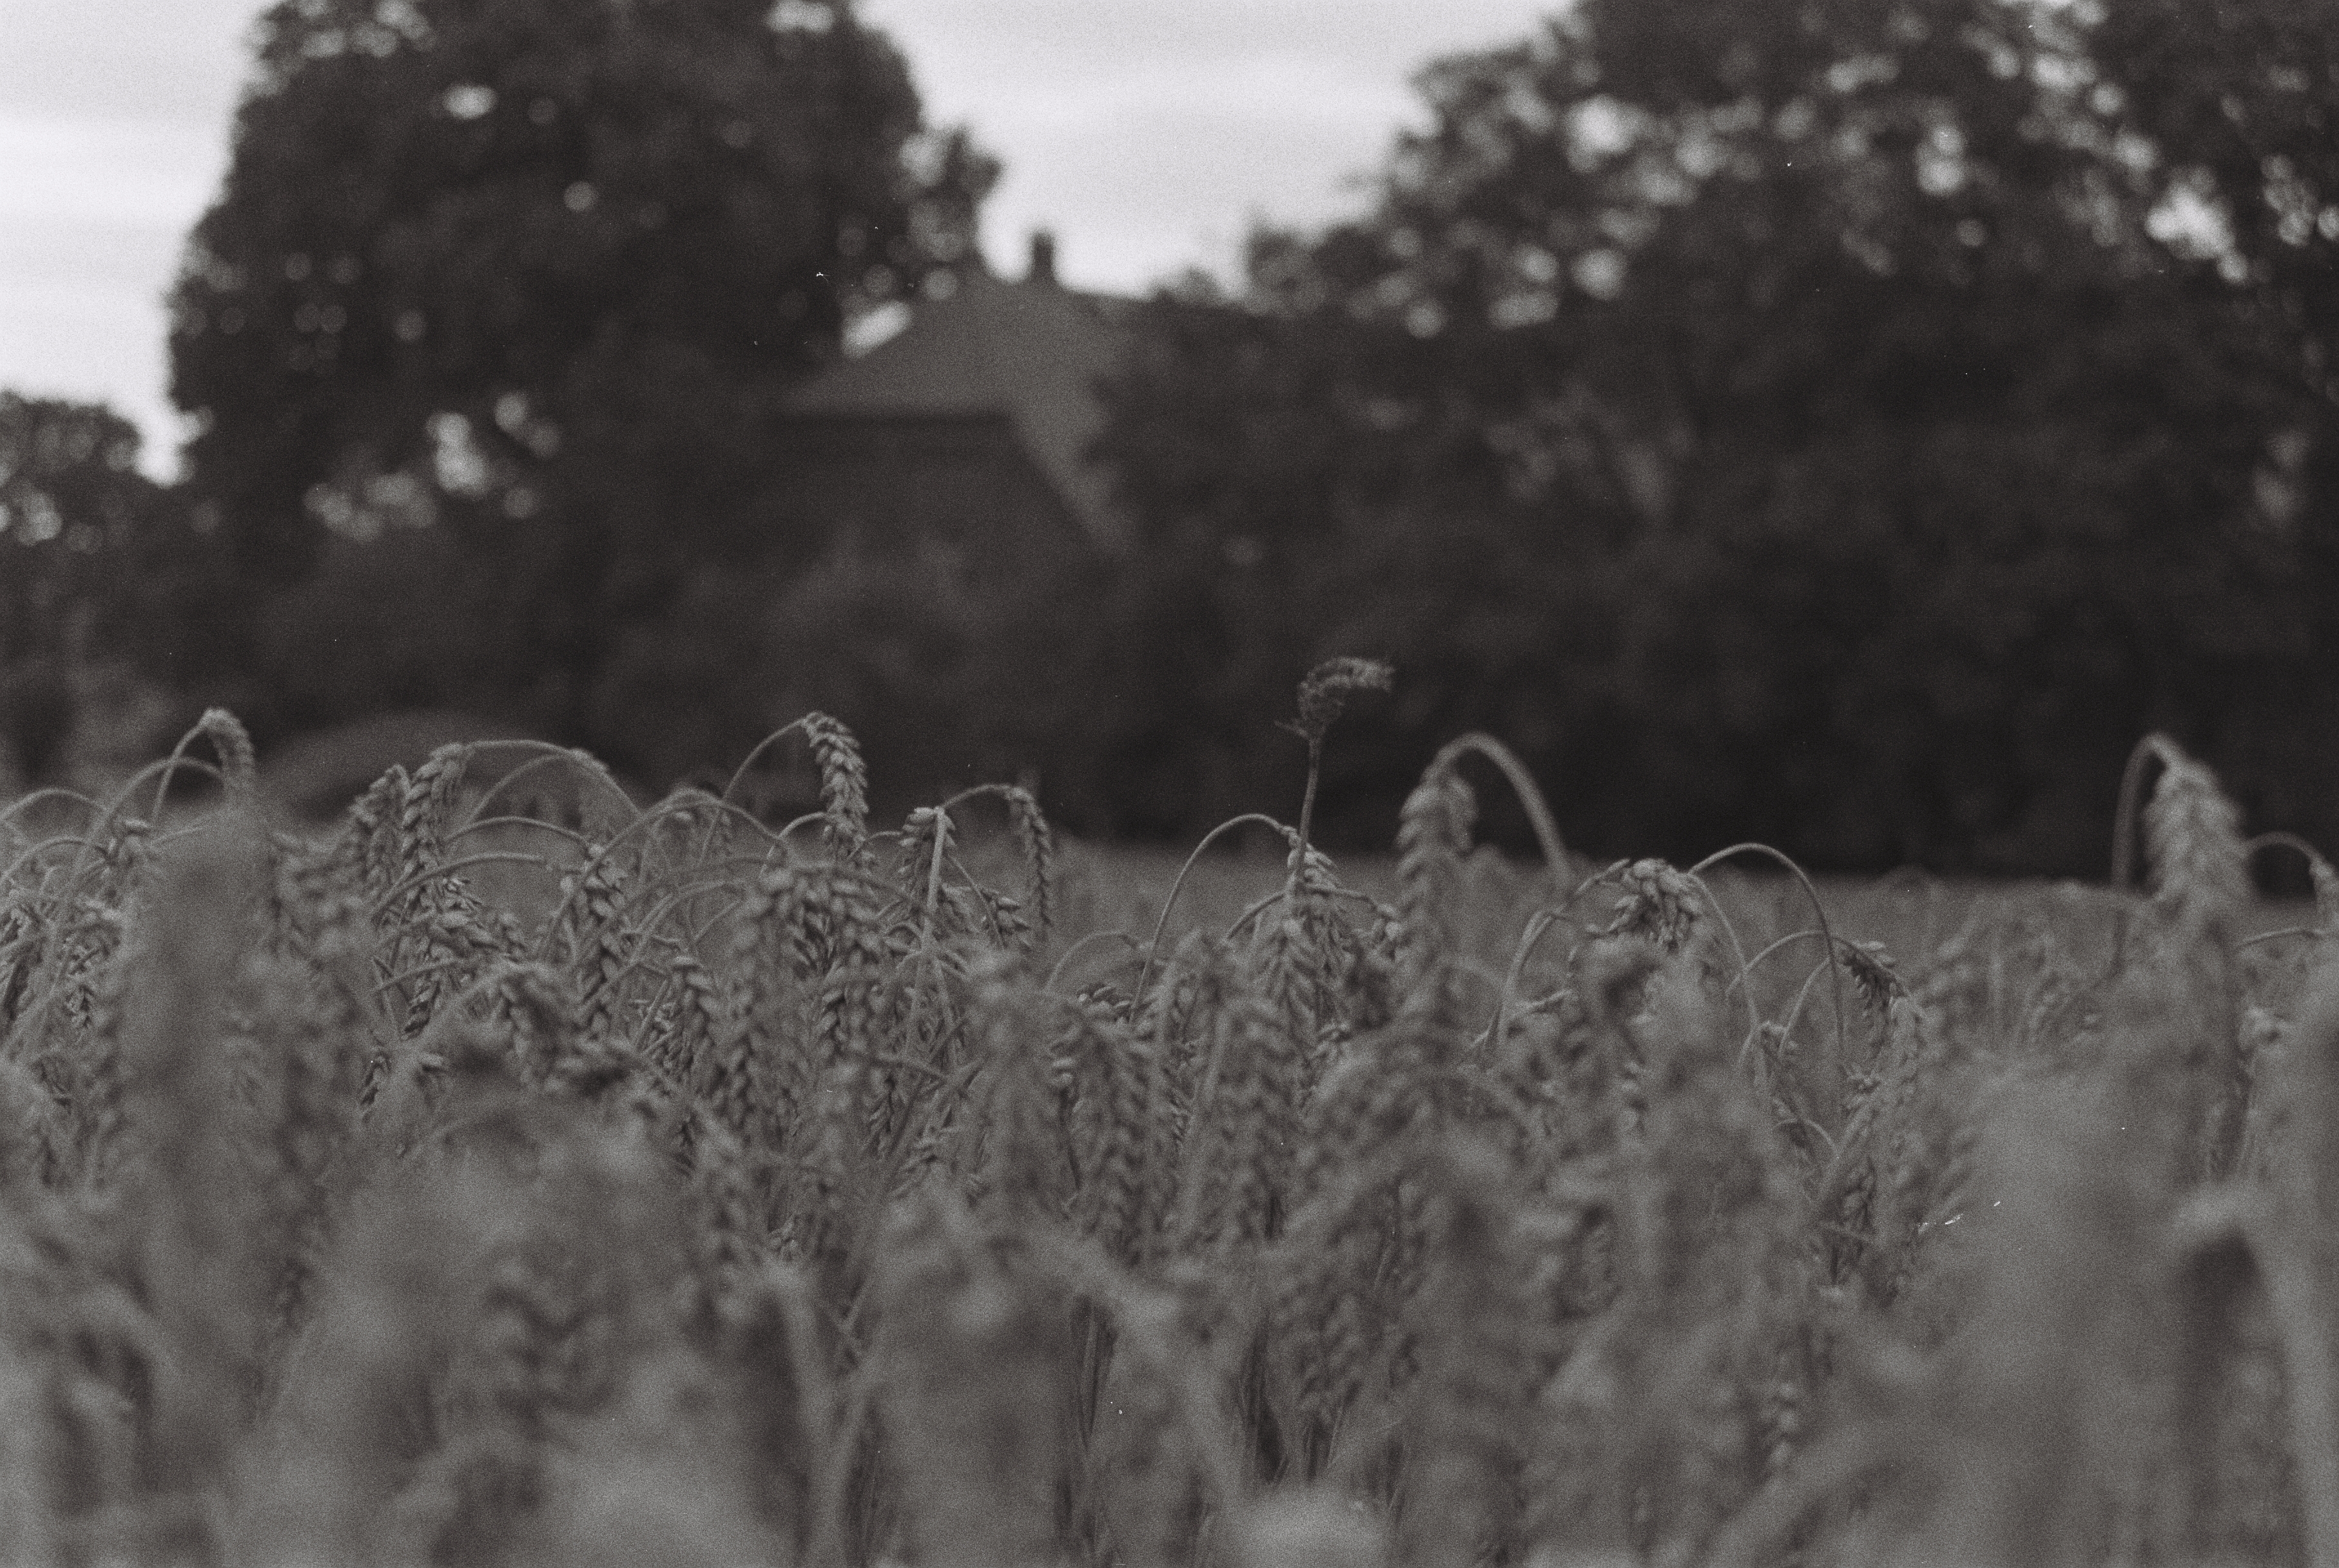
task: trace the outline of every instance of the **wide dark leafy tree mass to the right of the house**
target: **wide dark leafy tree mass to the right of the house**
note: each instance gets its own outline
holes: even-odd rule
[[[2093,866],[2136,735],[2248,751],[2330,580],[2264,506],[2281,344],[2180,243],[2096,21],[1584,0],[1431,66],[1366,218],[1261,236],[1233,314],[1153,307],[1134,510],[1249,541],[1177,559],[1219,606],[1268,573],[1226,641],[1277,683],[1413,672],[1382,810],[1488,725],[1600,847]]]

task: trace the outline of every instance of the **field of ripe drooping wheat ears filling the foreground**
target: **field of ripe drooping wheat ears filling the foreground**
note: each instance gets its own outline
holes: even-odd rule
[[[1207,920],[816,714],[786,828],[449,747],[292,833],[218,711],[0,812],[0,1563],[2339,1563],[2311,847],[2152,737],[2143,892],[1897,950],[1464,737],[1361,889],[1380,679]]]

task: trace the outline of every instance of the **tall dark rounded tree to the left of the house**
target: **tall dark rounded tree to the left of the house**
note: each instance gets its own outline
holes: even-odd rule
[[[779,398],[966,260],[992,178],[844,0],[283,0],[173,295],[192,489],[253,583],[447,529],[522,627],[475,674],[622,758],[608,653],[809,543]]]

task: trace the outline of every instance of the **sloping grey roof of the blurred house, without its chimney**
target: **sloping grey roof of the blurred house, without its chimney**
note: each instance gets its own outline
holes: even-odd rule
[[[1097,381],[1123,356],[1118,304],[1060,286],[1046,264],[1013,283],[968,269],[947,300],[912,307],[901,332],[800,386],[788,412],[802,419],[1006,417],[1090,538],[1118,545],[1130,527],[1113,506],[1111,477],[1088,461],[1104,428]]]

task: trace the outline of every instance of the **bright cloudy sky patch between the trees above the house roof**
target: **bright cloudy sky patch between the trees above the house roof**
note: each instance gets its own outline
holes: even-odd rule
[[[865,0],[908,51],[929,117],[968,122],[1008,169],[985,250],[1020,267],[1053,227],[1062,276],[1137,293],[1233,269],[1251,222],[1364,204],[1434,56],[1527,37],[1530,0]]]

